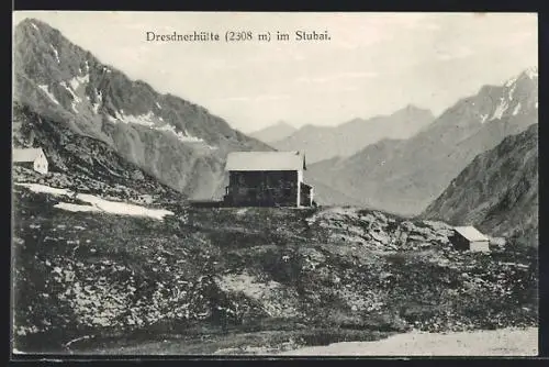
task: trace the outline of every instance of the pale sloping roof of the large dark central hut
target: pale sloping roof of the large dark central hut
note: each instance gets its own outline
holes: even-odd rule
[[[300,152],[233,152],[225,170],[301,170],[306,169]]]

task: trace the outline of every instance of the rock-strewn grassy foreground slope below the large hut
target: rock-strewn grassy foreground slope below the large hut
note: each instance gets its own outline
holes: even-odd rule
[[[141,341],[200,354],[537,320],[536,263],[445,249],[441,224],[350,209],[186,209],[160,222],[58,200],[15,187],[20,351],[131,353]]]

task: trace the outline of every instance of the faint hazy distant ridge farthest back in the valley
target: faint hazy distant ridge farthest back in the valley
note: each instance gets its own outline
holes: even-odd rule
[[[355,119],[338,126],[305,125],[270,145],[280,151],[304,151],[307,162],[350,156],[382,138],[407,138],[433,122],[430,111],[407,105],[391,115]]]

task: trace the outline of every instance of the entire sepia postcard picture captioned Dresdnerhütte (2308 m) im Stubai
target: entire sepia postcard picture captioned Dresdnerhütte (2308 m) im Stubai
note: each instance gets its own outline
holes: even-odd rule
[[[538,355],[537,13],[12,19],[13,358]]]

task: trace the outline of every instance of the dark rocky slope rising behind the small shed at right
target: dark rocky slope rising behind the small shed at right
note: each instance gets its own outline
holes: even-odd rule
[[[538,244],[538,125],[478,155],[423,213]]]

